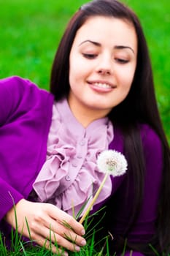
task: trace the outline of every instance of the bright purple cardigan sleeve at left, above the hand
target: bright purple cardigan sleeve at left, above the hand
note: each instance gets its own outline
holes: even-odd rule
[[[28,196],[45,161],[52,105],[52,95],[29,80],[0,80],[0,220]]]

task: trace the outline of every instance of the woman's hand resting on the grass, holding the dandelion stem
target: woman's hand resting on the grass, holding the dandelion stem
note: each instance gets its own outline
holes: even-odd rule
[[[50,203],[33,203],[28,200],[20,200],[15,208],[7,212],[5,220],[16,228],[15,211],[17,214],[18,232],[23,236],[36,241],[36,244],[52,249],[58,253],[54,245],[63,246],[70,251],[80,251],[80,246],[85,245],[84,227],[72,216],[61,211]],[[26,225],[28,222],[29,231]],[[61,250],[60,250],[61,252]],[[63,251],[62,251],[63,252]],[[67,255],[65,252],[64,255]]]

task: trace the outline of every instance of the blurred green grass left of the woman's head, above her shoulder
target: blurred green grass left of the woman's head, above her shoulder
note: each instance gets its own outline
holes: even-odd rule
[[[0,77],[20,75],[48,89],[55,50],[83,1],[0,0]]]

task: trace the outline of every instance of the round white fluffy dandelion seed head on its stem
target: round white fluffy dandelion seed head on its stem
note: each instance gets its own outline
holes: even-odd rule
[[[125,173],[128,163],[123,154],[115,150],[105,150],[98,155],[98,170],[112,176],[121,176]]]

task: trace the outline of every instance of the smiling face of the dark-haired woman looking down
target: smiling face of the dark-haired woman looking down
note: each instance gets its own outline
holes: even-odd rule
[[[96,16],[77,31],[69,57],[69,105],[75,116],[107,116],[131,89],[137,59],[134,26]]]

